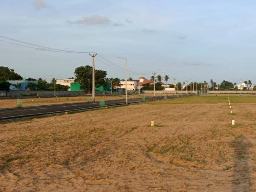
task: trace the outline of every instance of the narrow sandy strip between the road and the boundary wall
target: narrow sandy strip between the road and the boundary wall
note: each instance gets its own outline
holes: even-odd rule
[[[140,96],[128,96],[130,98],[136,98]],[[99,100],[118,100],[125,99],[126,97],[121,96],[96,96],[95,101]],[[81,97],[57,97],[57,98],[29,98],[20,99],[22,101],[22,107],[28,106],[39,106],[39,105],[52,105],[61,103],[76,103],[76,102],[87,102],[91,101],[91,97],[81,96]],[[15,108],[17,107],[17,99],[3,99],[0,100],[0,108]]]

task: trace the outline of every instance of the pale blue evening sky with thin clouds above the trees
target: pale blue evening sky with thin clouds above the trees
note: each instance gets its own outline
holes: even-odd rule
[[[107,77],[165,74],[168,83],[256,84],[255,0],[0,0],[0,36],[55,49],[94,52]],[[10,44],[8,41],[15,44]],[[88,53],[19,46],[0,37],[0,66],[50,81],[92,66]],[[22,44],[26,45],[26,44]],[[30,45],[26,45],[30,46]],[[240,80],[241,79],[241,80]]]

